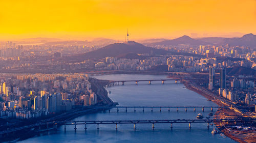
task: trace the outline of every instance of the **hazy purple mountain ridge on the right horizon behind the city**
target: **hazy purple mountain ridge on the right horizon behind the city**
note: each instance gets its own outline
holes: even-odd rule
[[[230,46],[248,46],[251,48],[256,48],[256,35],[246,34],[240,38],[222,38],[222,37],[206,37],[193,39],[189,36],[182,36],[173,40],[164,40],[161,42],[154,42],[149,45],[230,45]]]

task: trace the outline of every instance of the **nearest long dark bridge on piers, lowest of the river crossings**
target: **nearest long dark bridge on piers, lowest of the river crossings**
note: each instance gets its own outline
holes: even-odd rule
[[[40,124],[33,124],[30,126],[24,126],[19,128],[13,128],[11,130],[1,131],[0,138],[3,137],[5,134],[14,133],[16,131],[24,130],[24,129],[31,129],[31,128],[38,128],[40,130],[41,126],[46,126],[49,130],[49,126],[52,125],[55,129],[57,125],[64,125],[64,129],[66,131],[67,125],[74,125],[74,129],[76,130],[77,125],[84,125],[84,129],[87,130],[87,125],[97,125],[96,129],[99,129],[100,124],[115,124],[116,129],[118,124],[134,124],[134,129],[136,129],[136,124],[152,124],[152,128],[154,129],[155,124],[170,124],[170,128],[173,128],[174,123],[188,123],[189,128],[191,128],[192,123],[207,123],[207,127],[209,128],[210,123],[229,123],[233,125],[237,124],[253,124],[255,123],[256,118],[238,118],[238,119],[172,119],[172,120],[107,120],[107,121],[60,121],[60,122],[46,122]]]

